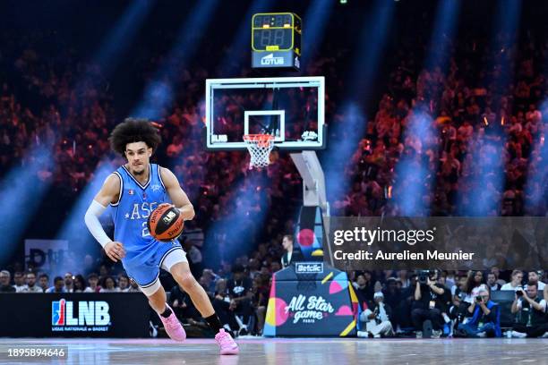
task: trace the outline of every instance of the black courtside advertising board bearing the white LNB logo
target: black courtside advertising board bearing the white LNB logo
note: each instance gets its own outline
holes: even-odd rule
[[[0,337],[148,337],[142,293],[4,293]]]

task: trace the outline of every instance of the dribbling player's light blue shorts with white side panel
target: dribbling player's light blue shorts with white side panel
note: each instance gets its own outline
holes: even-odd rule
[[[140,252],[126,252],[122,260],[127,276],[141,289],[156,284],[160,267],[169,271],[179,262],[188,262],[179,242],[154,242]]]

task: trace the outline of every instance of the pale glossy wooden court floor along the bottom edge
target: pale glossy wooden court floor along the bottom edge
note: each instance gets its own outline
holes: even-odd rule
[[[547,339],[246,339],[240,354],[218,355],[213,340],[0,338],[0,364],[547,364]],[[64,360],[8,358],[13,347],[65,345]]]

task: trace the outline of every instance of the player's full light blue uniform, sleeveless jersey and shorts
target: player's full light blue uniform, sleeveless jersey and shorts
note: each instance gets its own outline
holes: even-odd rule
[[[167,254],[183,250],[178,242],[159,242],[150,235],[147,219],[158,205],[169,202],[166,187],[160,176],[160,166],[149,165],[149,181],[141,185],[121,166],[113,174],[120,178],[120,196],[112,207],[115,241],[122,242],[125,271],[142,288],[156,282],[159,268]]]

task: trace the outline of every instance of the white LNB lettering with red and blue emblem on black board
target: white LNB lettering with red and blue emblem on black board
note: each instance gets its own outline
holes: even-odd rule
[[[74,317],[73,301],[51,302],[51,324],[52,326],[80,326],[76,328],[66,328],[66,330],[99,330],[107,331],[110,325],[110,314],[107,301],[78,301],[78,315]],[[98,327],[99,326],[99,327]]]

